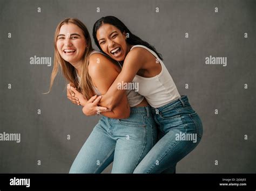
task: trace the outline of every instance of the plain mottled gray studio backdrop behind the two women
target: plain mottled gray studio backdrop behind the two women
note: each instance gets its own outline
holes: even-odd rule
[[[99,117],[84,116],[66,98],[61,72],[51,93],[42,94],[49,88],[53,36],[66,17],[79,18],[91,33],[107,15],[163,54],[179,93],[203,121],[203,139],[177,173],[255,173],[255,12],[253,0],[1,0],[0,133],[21,133],[21,143],[0,141],[0,173],[69,172]],[[51,66],[31,65],[35,55],[51,57]],[[206,65],[210,55],[226,57],[227,66]],[[104,171],[110,172],[111,166]]]

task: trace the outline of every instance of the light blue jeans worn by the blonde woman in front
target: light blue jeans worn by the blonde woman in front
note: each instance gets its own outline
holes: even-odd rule
[[[156,141],[157,126],[150,106],[131,108],[127,119],[103,116],[69,173],[101,173],[112,161],[112,173],[133,173]]]

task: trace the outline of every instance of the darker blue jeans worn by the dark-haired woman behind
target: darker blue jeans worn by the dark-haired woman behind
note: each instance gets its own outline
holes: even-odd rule
[[[133,173],[174,173],[177,162],[199,144],[203,125],[187,96],[152,111],[160,140]]]

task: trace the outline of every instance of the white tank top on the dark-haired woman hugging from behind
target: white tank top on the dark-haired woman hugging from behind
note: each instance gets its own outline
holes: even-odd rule
[[[133,79],[133,82],[138,82],[140,95],[143,95],[147,102],[153,108],[159,108],[167,103],[170,103],[180,97],[180,94],[177,90],[175,83],[172,80],[172,76],[165,67],[163,61],[158,58],[157,54],[151,49],[143,45],[134,45],[132,48],[142,47],[147,49],[152,53],[161,64],[160,74],[154,77],[142,77],[136,75]],[[131,48],[131,49],[132,49]]]

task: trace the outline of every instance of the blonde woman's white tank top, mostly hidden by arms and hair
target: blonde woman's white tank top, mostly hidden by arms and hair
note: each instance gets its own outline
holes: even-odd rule
[[[103,54],[101,52],[97,52],[97,51],[93,51],[91,52],[90,55],[94,54],[94,53],[100,53],[100,54]],[[108,56],[109,55],[106,55],[106,54],[103,54],[105,56]],[[76,73],[77,74],[77,73]],[[80,82],[80,77],[79,75],[77,74],[77,79],[78,79],[78,82]],[[100,93],[100,91],[98,90],[98,88],[94,87],[93,86],[93,89],[95,90],[95,94],[97,95],[102,95]],[[130,107],[134,107],[136,105],[138,105],[139,103],[141,103],[144,99],[144,96],[140,95],[138,92],[136,92],[135,90],[126,90],[126,94],[127,94],[127,100],[128,100],[128,103],[130,105]]]

